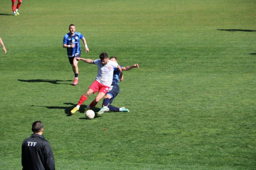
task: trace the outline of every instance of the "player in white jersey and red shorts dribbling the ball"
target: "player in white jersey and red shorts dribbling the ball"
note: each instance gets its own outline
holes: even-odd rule
[[[76,57],[77,60],[82,60],[86,63],[89,64],[96,64],[98,66],[98,75],[95,78],[95,81],[92,83],[92,85],[89,87],[87,92],[85,92],[76,107],[74,107],[71,110],[71,113],[74,114],[77,110],[79,110],[79,107],[83,104],[83,102],[90,96],[92,93],[98,92],[97,96],[95,99],[92,101],[90,105],[87,105],[85,112],[89,110],[90,107],[96,106],[97,103],[105,96],[105,94],[108,92],[108,89],[110,85],[112,84],[112,79],[113,79],[113,71],[115,68],[117,68],[122,76],[122,69],[121,67],[114,61],[111,61],[108,59],[108,54],[107,53],[101,53],[100,54],[100,59],[97,60],[91,60],[91,59],[85,59],[85,58],[80,58]],[[107,106],[107,104],[106,104]],[[108,107],[106,109],[109,110]],[[104,110],[104,111],[108,111]],[[102,112],[103,113],[103,112]],[[98,114],[100,114],[98,112]]]

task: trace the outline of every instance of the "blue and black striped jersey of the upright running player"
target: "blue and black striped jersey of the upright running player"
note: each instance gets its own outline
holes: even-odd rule
[[[67,33],[63,38],[63,44],[71,45],[75,44],[74,48],[67,48],[68,56],[73,56],[75,54],[81,54],[81,47],[80,47],[80,40],[83,39],[84,36],[79,33],[75,32],[75,35],[71,36],[70,33]]]

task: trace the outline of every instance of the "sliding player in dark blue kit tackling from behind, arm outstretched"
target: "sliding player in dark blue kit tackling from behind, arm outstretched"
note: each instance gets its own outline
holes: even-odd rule
[[[110,60],[115,61],[117,63],[116,57],[112,56],[110,57]],[[134,64],[131,66],[127,66],[127,67],[122,67],[120,66],[122,71],[128,71],[131,70],[132,68],[137,67],[138,69],[140,68],[138,64]],[[119,93],[119,85],[118,85],[118,81],[120,79],[120,81],[123,81],[123,75],[122,77],[119,77],[120,72],[117,69],[114,69],[114,73],[113,73],[113,81],[112,84],[107,92],[107,94],[104,97],[103,103],[102,103],[102,108],[100,109],[100,111],[98,112],[98,114],[102,114],[106,111],[115,111],[115,112],[130,112],[128,109],[121,107],[114,107],[112,105],[110,105],[113,100],[116,98],[117,94]]]

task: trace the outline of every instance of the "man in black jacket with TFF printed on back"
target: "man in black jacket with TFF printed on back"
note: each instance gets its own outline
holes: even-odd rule
[[[22,143],[21,162],[23,170],[55,170],[52,148],[42,135],[43,123],[41,121],[34,122],[32,131],[34,133]]]

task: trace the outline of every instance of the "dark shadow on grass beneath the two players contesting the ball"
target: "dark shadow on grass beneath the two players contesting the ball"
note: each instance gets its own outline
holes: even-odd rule
[[[72,114],[70,113],[70,111],[76,106],[74,103],[63,103],[65,105],[71,105],[71,106],[35,106],[35,105],[31,105],[31,107],[46,107],[48,109],[64,109],[65,114],[67,116],[72,116]],[[79,110],[76,113],[82,113],[84,115],[84,111],[85,108],[87,106],[86,105],[81,105],[81,107],[79,108]],[[100,111],[100,108],[96,108],[96,107],[92,107],[91,110],[93,110],[95,113]],[[97,114],[95,114],[94,118],[100,117]],[[86,119],[85,117],[80,117],[79,119]]]

